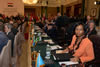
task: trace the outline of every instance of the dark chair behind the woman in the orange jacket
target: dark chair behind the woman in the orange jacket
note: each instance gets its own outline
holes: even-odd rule
[[[91,35],[89,39],[93,42],[95,59],[89,62],[88,65],[100,67],[100,35]]]

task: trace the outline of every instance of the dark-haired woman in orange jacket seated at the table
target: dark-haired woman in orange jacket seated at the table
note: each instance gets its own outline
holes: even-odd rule
[[[75,35],[72,38],[71,45],[69,45],[63,53],[72,53],[74,58],[70,60],[73,62],[89,62],[94,59],[94,50],[92,42],[86,37],[87,29],[83,23],[77,23],[75,26]]]

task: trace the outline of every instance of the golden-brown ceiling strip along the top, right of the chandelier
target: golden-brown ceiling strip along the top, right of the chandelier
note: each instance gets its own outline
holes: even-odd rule
[[[67,5],[77,0],[38,0],[37,4],[25,4],[25,6],[48,6],[48,7],[59,7],[61,5]]]

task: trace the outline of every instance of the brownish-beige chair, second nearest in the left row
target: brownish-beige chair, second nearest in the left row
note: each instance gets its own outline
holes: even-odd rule
[[[18,32],[14,39],[14,50],[13,50],[13,57],[12,57],[12,65],[14,64],[15,67],[17,65],[18,56],[21,55],[21,45],[24,41],[24,35],[22,32]]]

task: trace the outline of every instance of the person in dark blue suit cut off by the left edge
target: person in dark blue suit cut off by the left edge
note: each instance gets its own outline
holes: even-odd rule
[[[7,44],[8,38],[3,32],[3,23],[0,22],[0,53],[3,47]]]

